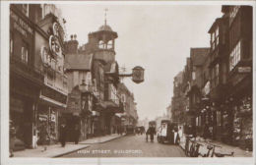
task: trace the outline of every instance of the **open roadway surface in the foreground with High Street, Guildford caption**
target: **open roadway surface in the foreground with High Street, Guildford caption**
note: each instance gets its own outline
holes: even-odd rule
[[[145,135],[130,135],[63,155],[67,158],[85,157],[185,157],[178,145],[147,142]]]

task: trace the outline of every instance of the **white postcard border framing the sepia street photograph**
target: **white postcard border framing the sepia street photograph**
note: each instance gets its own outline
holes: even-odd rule
[[[1,1],[1,164],[211,164],[211,165],[240,165],[255,164],[252,158],[9,158],[9,4],[10,3],[54,3],[54,4],[87,4],[87,5],[251,5],[253,6],[253,48],[255,44],[255,1]],[[221,12],[221,11],[220,11]],[[3,38],[5,38],[3,40]],[[255,50],[253,50],[255,66]],[[256,72],[254,67],[253,74]],[[255,77],[253,77],[255,84]],[[253,86],[255,93],[255,86]],[[255,109],[253,97],[253,109]],[[255,110],[253,112],[255,121]],[[254,122],[255,128],[255,122]],[[253,133],[255,137],[255,132]]]

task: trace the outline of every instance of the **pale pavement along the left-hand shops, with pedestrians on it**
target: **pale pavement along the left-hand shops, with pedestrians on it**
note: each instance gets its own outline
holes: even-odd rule
[[[62,155],[75,152],[80,149],[89,147],[91,144],[103,143],[112,139],[121,138],[120,135],[109,135],[104,137],[89,138],[87,140],[80,141],[78,144],[74,142],[66,142],[65,147],[62,147],[60,143],[47,145],[47,149],[43,150],[43,146],[39,145],[34,149],[25,149],[14,152],[14,157],[60,157]]]

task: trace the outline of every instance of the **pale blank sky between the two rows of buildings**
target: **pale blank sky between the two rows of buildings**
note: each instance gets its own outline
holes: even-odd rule
[[[222,17],[221,6],[202,5],[57,5],[67,21],[68,38],[77,34],[82,45],[88,33],[106,22],[118,33],[116,61],[126,73],[145,69],[145,82],[123,81],[134,93],[139,119],[155,119],[166,112],[173,95],[173,78],[183,70],[191,47],[209,47],[208,30]]]

